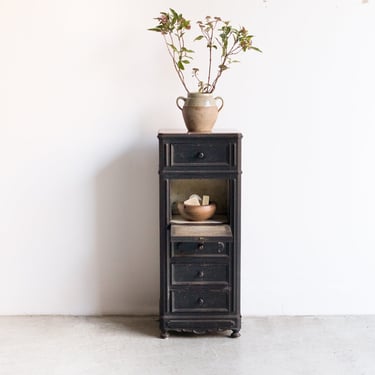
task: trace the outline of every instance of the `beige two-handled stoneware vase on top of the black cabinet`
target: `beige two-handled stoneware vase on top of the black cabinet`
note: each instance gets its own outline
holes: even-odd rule
[[[220,101],[218,107],[216,101]],[[183,106],[181,106],[181,102]],[[187,98],[179,96],[176,104],[182,111],[185,125],[191,133],[210,133],[216,122],[217,115],[224,105],[220,96],[213,97],[212,94],[190,92]]]

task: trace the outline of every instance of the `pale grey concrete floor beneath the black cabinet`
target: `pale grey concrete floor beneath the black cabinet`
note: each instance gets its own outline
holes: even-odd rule
[[[244,318],[241,334],[162,340],[155,318],[0,317],[0,374],[375,374],[375,316]]]

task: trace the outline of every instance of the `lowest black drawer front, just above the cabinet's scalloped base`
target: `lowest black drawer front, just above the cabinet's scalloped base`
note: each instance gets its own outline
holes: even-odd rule
[[[173,290],[172,312],[228,312],[230,311],[229,290]]]

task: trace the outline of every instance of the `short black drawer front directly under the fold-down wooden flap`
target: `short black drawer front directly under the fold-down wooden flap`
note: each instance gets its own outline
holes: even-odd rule
[[[173,242],[172,257],[178,256],[228,256],[227,242]]]

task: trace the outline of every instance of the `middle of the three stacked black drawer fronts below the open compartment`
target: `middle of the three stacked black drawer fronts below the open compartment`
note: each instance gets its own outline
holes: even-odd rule
[[[228,264],[173,263],[172,285],[180,284],[228,284]]]

